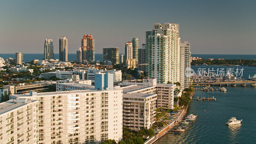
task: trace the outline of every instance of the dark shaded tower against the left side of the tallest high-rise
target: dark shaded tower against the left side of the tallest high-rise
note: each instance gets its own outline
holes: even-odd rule
[[[138,49],[138,68],[139,70],[145,71],[146,65],[143,65],[146,63],[146,44],[142,44],[142,47]]]

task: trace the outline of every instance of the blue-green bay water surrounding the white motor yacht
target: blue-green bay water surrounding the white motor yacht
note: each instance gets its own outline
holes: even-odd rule
[[[214,68],[219,66],[200,66],[200,68]],[[193,69],[199,66],[192,66]],[[220,68],[229,68],[220,66]],[[249,74],[252,76],[256,72],[256,67],[244,68],[242,78],[247,79]],[[199,91],[195,90],[194,97],[216,97],[216,101],[197,101],[190,102],[187,114],[198,114],[195,123],[182,135],[168,133],[156,144],[171,143],[255,143],[255,118],[256,114],[256,88],[250,86],[236,87],[231,85],[226,87],[227,92],[220,91]],[[219,86],[213,86],[213,89]],[[204,111],[204,109],[206,111]],[[225,125],[230,117],[243,119],[241,124]]]

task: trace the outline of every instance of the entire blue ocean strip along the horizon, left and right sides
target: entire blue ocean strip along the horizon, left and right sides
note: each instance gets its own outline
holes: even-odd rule
[[[255,60],[256,54],[191,54],[192,57],[200,57],[202,59],[244,59],[244,60]],[[15,57],[15,53],[0,53],[0,57],[7,59]],[[42,60],[44,53],[23,53],[23,61],[31,61],[34,59]],[[54,59],[59,59],[59,53],[54,53]],[[68,53],[68,60],[75,61],[76,53]],[[95,60],[102,61],[102,53],[95,53]]]

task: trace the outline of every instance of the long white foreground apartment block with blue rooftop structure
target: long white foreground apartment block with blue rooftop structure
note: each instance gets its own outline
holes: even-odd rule
[[[66,87],[72,84],[85,85],[67,83],[58,84],[61,92],[11,95],[14,99],[39,101],[38,143],[98,144],[107,139],[122,140],[122,89],[113,87],[113,81],[111,84],[113,74],[96,75],[96,85],[101,88],[82,86],[85,90],[67,91]]]

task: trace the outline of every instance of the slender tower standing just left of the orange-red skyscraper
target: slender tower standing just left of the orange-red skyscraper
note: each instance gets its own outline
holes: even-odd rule
[[[68,61],[68,39],[66,36],[61,36],[59,40],[59,56],[60,61]]]

